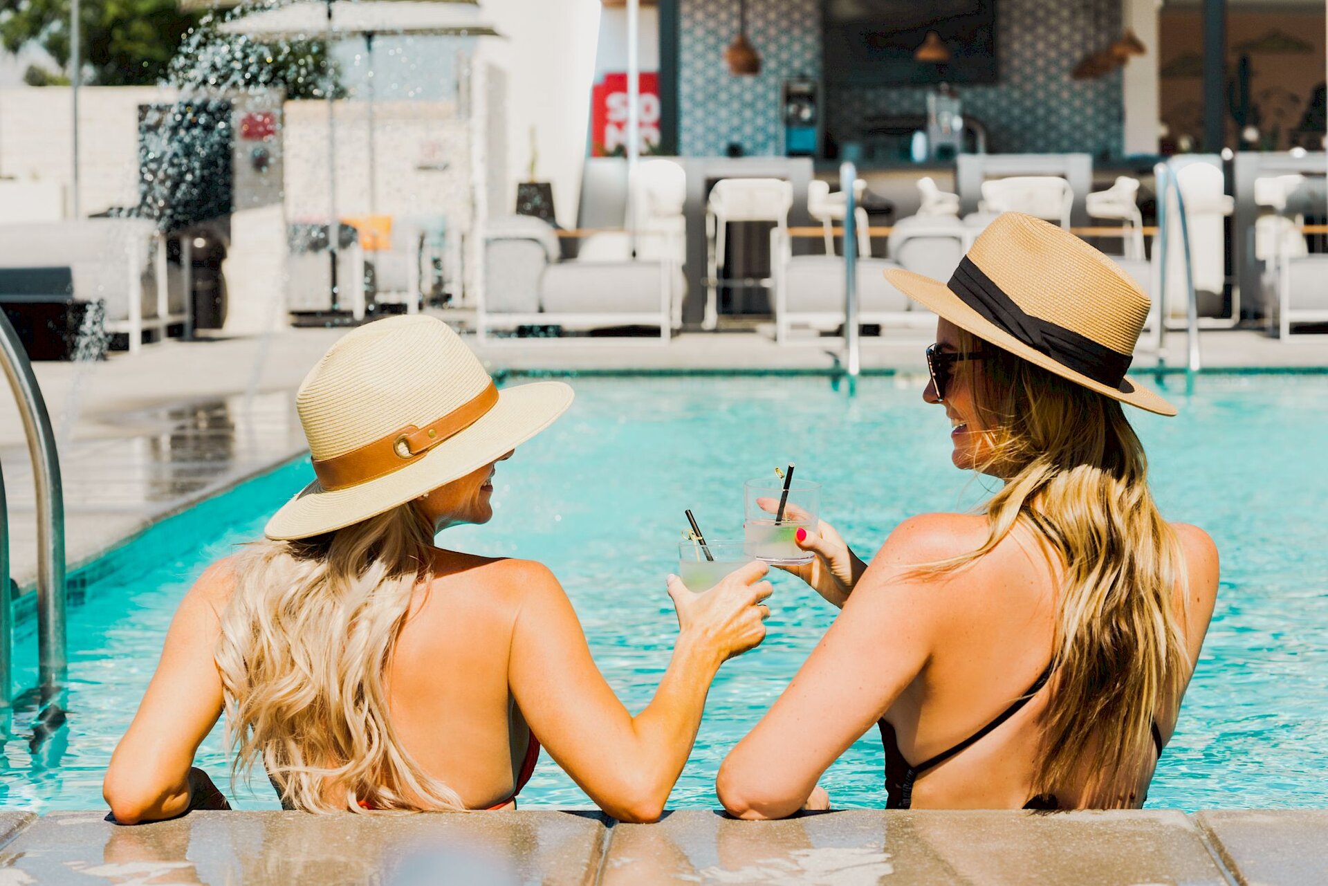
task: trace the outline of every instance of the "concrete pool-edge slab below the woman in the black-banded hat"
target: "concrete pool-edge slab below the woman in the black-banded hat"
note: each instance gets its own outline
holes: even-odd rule
[[[618,825],[604,883],[1226,883],[1178,812],[853,810],[778,822],[671,813]]]

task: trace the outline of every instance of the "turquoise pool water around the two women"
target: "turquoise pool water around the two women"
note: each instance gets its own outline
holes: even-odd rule
[[[676,565],[684,507],[712,535],[741,525],[742,481],[793,458],[825,484],[822,511],[870,554],[904,517],[963,509],[983,482],[950,466],[950,426],[920,401],[916,377],[865,379],[854,396],[825,379],[582,379],[550,432],[498,474],[487,526],[441,543],[519,555],[554,569],[595,659],[632,709],[659,680],[676,623],[663,576]],[[1223,559],[1222,594],[1203,660],[1166,749],[1150,806],[1324,805],[1328,769],[1328,376],[1201,376],[1162,387],[1182,406],[1133,413],[1171,519],[1204,526]],[[116,555],[70,606],[69,723],[36,752],[20,707],[0,756],[0,802],[33,810],[101,806],[101,774],[157,663],[175,603],[211,561],[258,537],[267,515],[311,476],[307,462],[167,521]],[[833,611],[777,579],[766,643],[725,665],[672,806],[713,806],[714,772],[830,623]],[[36,660],[32,622],[16,663]],[[35,667],[19,671],[21,685]],[[201,765],[224,772],[218,728]],[[872,731],[823,784],[837,806],[880,806]],[[235,790],[275,808],[266,782]],[[525,808],[586,806],[547,757]]]

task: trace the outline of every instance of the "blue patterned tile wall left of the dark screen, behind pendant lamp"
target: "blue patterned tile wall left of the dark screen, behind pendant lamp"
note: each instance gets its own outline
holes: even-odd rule
[[[821,0],[748,0],[748,39],[761,73],[734,77],[724,49],[738,32],[738,0],[679,3],[679,153],[782,154],[780,89],[788,77],[821,77]]]

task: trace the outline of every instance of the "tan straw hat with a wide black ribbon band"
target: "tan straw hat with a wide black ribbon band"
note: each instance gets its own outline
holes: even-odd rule
[[[1159,416],[1175,406],[1125,377],[1151,302],[1121,268],[1069,231],[1003,213],[950,283],[899,268],[886,279],[979,339],[1090,391]]]

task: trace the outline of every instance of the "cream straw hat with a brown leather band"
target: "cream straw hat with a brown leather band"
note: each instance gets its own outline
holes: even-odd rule
[[[274,539],[368,519],[530,440],[572,401],[560,381],[498,391],[446,323],[396,316],[337,340],[296,397],[317,480],[268,521]]]

